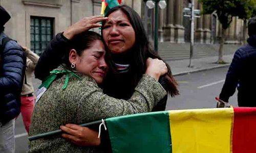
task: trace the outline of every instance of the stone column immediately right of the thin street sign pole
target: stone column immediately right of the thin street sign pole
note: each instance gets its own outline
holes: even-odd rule
[[[202,11],[202,5],[197,3],[196,5],[200,11]],[[197,27],[196,27],[196,41],[198,43],[203,43],[203,15],[200,18],[196,18]]]

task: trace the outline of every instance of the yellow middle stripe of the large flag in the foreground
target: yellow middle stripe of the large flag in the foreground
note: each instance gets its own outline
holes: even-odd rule
[[[172,152],[230,152],[233,108],[169,111]]]

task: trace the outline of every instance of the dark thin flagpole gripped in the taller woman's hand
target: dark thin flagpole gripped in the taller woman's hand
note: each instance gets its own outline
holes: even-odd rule
[[[87,127],[87,126],[90,126],[90,125],[96,125],[96,124],[100,124],[100,123],[102,123],[102,120],[98,120],[98,121],[94,121],[94,122],[90,122],[90,123],[80,124],[80,126]],[[37,139],[44,138],[44,137],[47,137],[47,136],[61,134],[61,133],[62,133],[61,130],[55,130],[55,131],[51,131],[51,132],[47,132],[47,133],[43,133],[43,134],[39,134],[39,135],[28,137],[28,139],[29,139],[29,141],[33,141],[33,140],[37,140]]]

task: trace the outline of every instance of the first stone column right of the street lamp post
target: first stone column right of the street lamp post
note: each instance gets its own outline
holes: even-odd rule
[[[174,26],[174,1],[166,1],[167,7],[165,9],[165,25],[164,25],[164,41],[175,42],[175,26]]]

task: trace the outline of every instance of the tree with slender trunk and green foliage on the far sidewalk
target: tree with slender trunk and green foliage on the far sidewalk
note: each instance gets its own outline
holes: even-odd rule
[[[220,23],[222,24],[222,34],[220,37],[219,60],[217,63],[225,63],[223,60],[224,50],[223,45],[226,38],[225,31],[229,28],[232,18],[238,16],[246,20],[256,15],[256,0],[199,0],[203,6],[202,14],[216,13]],[[246,28],[246,26],[245,26]],[[246,33],[246,29],[244,29]],[[246,36],[244,34],[244,36]]]

